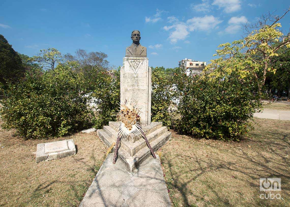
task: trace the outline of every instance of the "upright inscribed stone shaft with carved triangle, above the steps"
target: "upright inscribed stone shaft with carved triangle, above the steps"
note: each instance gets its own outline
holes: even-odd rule
[[[124,57],[120,70],[121,104],[125,99],[137,103],[141,125],[151,123],[151,68],[148,57]]]

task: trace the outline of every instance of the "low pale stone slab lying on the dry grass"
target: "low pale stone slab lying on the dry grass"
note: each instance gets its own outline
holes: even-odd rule
[[[41,143],[37,144],[36,162],[67,157],[75,155],[75,153],[76,149],[73,139]]]

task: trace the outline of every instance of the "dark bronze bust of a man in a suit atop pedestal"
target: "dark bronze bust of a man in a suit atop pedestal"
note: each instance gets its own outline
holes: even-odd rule
[[[134,30],[131,33],[131,39],[133,43],[131,46],[126,48],[125,57],[147,57],[147,49],[142,46],[139,42],[141,39],[140,32],[138,30]]]

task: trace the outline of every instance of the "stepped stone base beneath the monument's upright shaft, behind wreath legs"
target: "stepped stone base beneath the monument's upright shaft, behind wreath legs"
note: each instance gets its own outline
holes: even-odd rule
[[[142,127],[142,129],[153,151],[161,148],[171,138],[171,132],[168,132],[166,126],[162,126],[162,122],[151,122],[150,125]],[[106,146],[111,146],[117,141],[118,123],[110,121],[109,126],[104,126],[102,130],[98,129],[97,134]],[[120,140],[116,162],[123,161],[126,169],[132,172],[149,156],[152,155],[145,140],[131,137],[129,141]]]

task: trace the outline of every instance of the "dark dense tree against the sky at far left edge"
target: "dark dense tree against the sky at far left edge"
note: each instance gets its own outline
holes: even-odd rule
[[[24,72],[21,57],[0,34],[0,84],[6,86],[6,81],[16,82]]]

